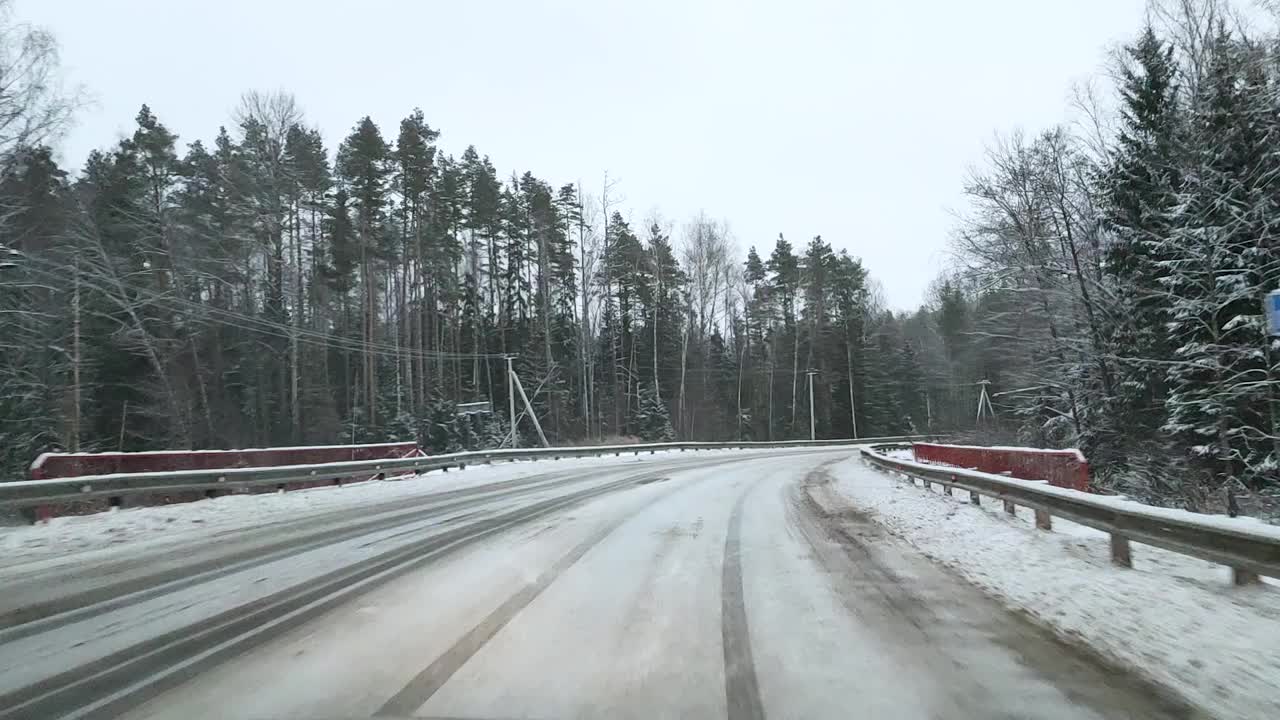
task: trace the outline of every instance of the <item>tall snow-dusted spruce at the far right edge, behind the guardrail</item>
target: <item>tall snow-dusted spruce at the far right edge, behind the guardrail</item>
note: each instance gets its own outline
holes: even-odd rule
[[[1155,247],[1176,346],[1165,430],[1203,473],[1181,488],[1196,509],[1230,482],[1251,489],[1276,484],[1280,460],[1258,302],[1280,283],[1271,229],[1277,165],[1270,150],[1280,124],[1253,47],[1220,31],[1211,59],[1203,96],[1193,105],[1193,172],[1167,215],[1169,238]]]

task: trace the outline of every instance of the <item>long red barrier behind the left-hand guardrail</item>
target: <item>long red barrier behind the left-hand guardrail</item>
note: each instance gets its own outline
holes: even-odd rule
[[[387,460],[417,452],[416,442],[324,445],[266,450],[192,450],[159,452],[46,452],[31,464],[31,479],[76,478],[114,473],[168,473],[224,468],[274,468],[348,460]]]

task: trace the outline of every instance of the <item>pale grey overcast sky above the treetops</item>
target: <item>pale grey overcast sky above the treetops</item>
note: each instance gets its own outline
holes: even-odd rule
[[[132,132],[180,143],[246,90],[289,90],[330,150],[415,106],[440,146],[589,190],[623,213],[705,210],[742,251],[780,232],[863,258],[896,309],[946,261],[966,168],[997,131],[1068,117],[1142,0],[17,0],[93,105],[63,159]]]

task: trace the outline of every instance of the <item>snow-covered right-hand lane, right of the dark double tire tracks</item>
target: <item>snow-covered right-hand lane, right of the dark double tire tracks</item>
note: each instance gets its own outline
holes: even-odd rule
[[[125,717],[1169,720],[904,543],[832,534],[797,496],[847,456],[671,466]]]

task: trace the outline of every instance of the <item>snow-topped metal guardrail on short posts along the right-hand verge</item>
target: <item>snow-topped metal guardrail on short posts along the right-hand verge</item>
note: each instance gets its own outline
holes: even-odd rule
[[[915,479],[923,480],[925,488],[937,483],[947,495],[952,488],[965,489],[974,505],[980,502],[979,496],[993,497],[1004,501],[1009,514],[1019,505],[1030,507],[1042,530],[1051,530],[1052,518],[1057,516],[1108,533],[1111,560],[1124,568],[1133,566],[1129,542],[1134,541],[1226,565],[1236,584],[1254,583],[1258,575],[1280,578],[1280,533],[1229,528],[1213,521],[1213,516],[1175,518],[1156,507],[1121,503],[1117,498],[1056,488],[1039,480],[895,460],[882,455],[882,450],[883,446],[863,448],[861,455],[872,465],[913,478],[911,484]]]

